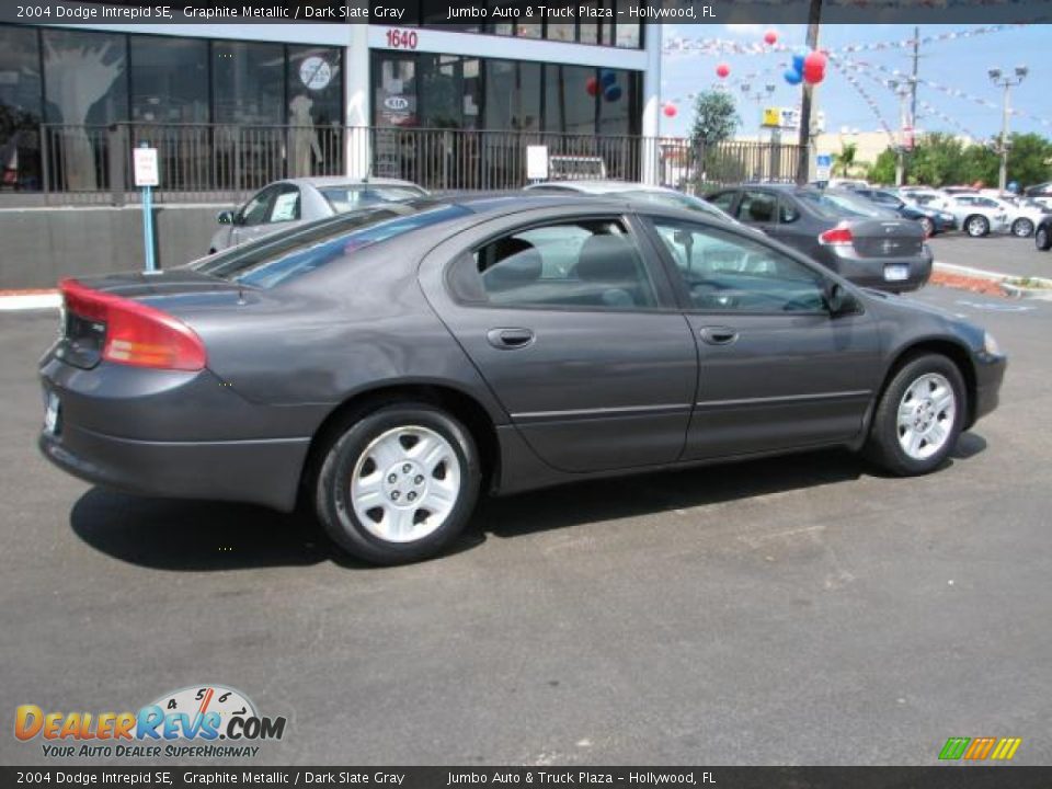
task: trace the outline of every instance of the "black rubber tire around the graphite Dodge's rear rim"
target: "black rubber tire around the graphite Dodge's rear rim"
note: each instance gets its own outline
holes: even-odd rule
[[[433,431],[451,446],[459,464],[459,493],[441,526],[420,539],[392,541],[371,531],[355,513],[351,479],[373,442],[412,427]],[[329,537],[352,556],[374,564],[402,564],[433,557],[456,539],[474,508],[480,480],[478,449],[464,425],[434,405],[396,403],[357,418],[332,442],[316,478],[315,508]]]

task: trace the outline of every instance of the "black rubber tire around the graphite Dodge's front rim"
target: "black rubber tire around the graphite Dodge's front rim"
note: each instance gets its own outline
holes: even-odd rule
[[[952,423],[948,426],[949,434],[942,446],[930,457],[919,459],[906,454],[899,443],[897,415],[899,405],[906,390],[927,374],[940,375],[950,384],[954,397],[954,413]],[[870,425],[869,439],[866,443],[864,454],[884,470],[899,477],[915,477],[934,471],[953,451],[957,439],[961,434],[967,410],[968,395],[964,379],[957,365],[940,354],[915,356],[895,370],[884,388],[873,413],[873,422]]]

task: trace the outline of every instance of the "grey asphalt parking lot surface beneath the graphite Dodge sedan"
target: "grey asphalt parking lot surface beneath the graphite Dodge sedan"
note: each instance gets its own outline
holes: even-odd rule
[[[983,735],[1048,764],[1052,304],[913,298],[1011,356],[939,473],[823,453],[562,488],[380,570],[290,517],[52,468],[55,315],[0,315],[0,710],[225,683],[289,718],[259,764],[928,765]],[[0,762],[46,759],[9,734]]]

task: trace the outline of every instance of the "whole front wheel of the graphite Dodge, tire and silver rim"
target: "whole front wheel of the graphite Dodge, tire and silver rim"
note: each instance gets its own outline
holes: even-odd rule
[[[965,413],[964,380],[946,356],[903,365],[873,414],[866,454],[901,477],[937,469],[953,450]]]

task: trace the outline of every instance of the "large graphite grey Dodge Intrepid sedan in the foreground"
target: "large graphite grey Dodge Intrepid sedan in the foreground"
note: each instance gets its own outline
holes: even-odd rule
[[[439,551],[481,490],[820,446],[925,473],[1006,365],[982,329],[747,229],[575,195],[391,204],[61,290],[52,461],[308,503],[378,563]]]

